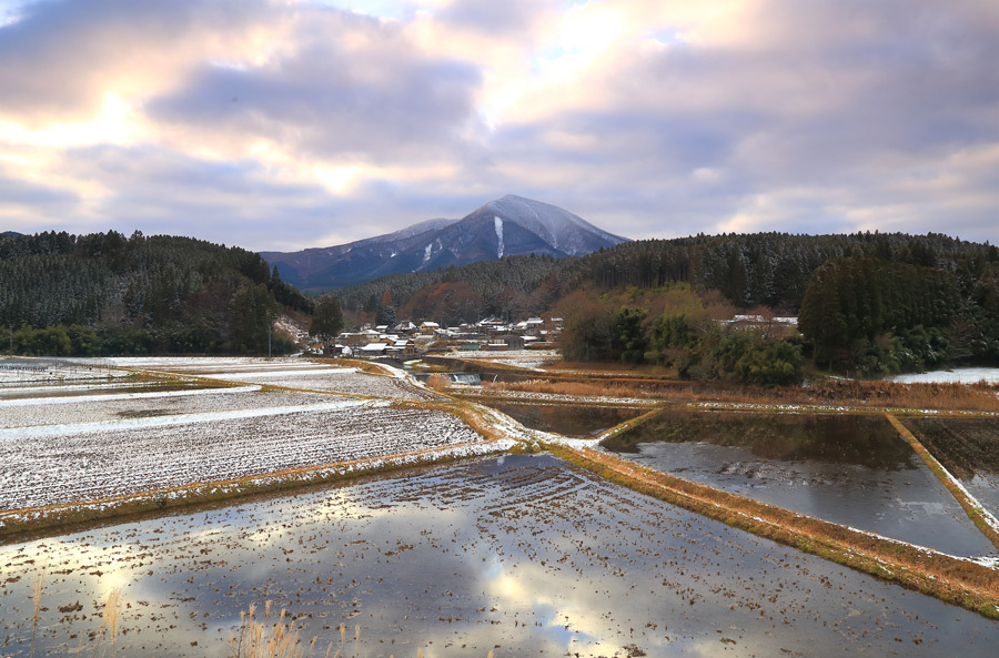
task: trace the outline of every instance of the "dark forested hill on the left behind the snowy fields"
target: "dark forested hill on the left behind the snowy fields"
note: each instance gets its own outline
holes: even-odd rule
[[[312,308],[260,254],[139,232],[0,235],[0,282],[22,353],[266,353],[282,306]]]

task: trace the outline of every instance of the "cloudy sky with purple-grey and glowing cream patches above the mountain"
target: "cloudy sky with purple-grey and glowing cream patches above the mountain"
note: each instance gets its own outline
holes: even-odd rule
[[[0,231],[999,241],[996,0],[0,0]]]

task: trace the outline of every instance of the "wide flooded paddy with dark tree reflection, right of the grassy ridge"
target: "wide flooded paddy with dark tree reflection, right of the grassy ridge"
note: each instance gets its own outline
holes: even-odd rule
[[[666,412],[604,442],[672,475],[959,556],[996,548],[880,416]]]

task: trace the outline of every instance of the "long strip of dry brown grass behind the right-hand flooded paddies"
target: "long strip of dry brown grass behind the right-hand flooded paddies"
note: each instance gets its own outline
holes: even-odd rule
[[[999,412],[999,386],[987,384],[897,384],[821,379],[808,387],[759,388],[724,382],[670,379],[528,379],[482,385],[485,391],[521,391],[557,395],[716,401],[748,404],[836,404],[858,407]]]

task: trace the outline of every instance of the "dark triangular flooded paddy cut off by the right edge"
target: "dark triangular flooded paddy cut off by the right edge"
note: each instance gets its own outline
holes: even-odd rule
[[[992,515],[999,515],[999,418],[906,418],[905,424]]]

